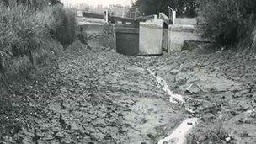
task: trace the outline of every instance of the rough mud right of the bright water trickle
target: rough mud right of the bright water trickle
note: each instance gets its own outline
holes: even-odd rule
[[[200,118],[188,143],[255,143],[256,56],[249,50],[239,54],[211,49],[150,58],[147,65],[184,95],[183,107]],[[202,91],[188,93],[193,83]]]

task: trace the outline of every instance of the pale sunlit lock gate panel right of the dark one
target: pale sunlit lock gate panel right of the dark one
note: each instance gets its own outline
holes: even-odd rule
[[[140,23],[139,55],[163,54],[163,24]]]

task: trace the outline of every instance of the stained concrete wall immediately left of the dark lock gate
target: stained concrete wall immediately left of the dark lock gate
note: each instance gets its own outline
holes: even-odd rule
[[[78,24],[78,35],[86,42],[106,46],[116,51],[115,24]]]

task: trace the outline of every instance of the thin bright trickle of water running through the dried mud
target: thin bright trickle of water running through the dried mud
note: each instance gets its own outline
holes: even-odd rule
[[[163,91],[170,97],[170,103],[172,104],[184,104],[184,98],[180,94],[175,94],[173,91],[170,90],[168,83],[162,78],[157,76],[156,72],[152,72],[151,70],[147,69],[152,77],[155,77],[158,83],[158,86],[163,87]],[[194,111],[192,109],[186,108],[189,113],[193,114]],[[189,134],[189,131],[198,124],[198,118],[188,118],[184,120],[172,133],[170,136],[163,138],[162,140],[158,141],[158,144],[184,144],[186,143],[186,136]]]

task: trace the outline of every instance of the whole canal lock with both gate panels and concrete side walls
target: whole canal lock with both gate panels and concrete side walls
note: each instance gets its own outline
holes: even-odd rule
[[[83,12],[83,17],[93,17],[93,19],[89,20],[94,22],[86,22],[86,19],[77,19],[77,21],[82,21],[78,22],[78,34],[85,41],[109,46],[119,53],[133,56],[161,55],[163,50],[168,51],[168,53],[181,51],[184,41],[201,40],[200,36],[195,32],[195,25],[197,24],[195,18],[175,19],[175,11],[172,9],[168,13],[168,16],[164,13],[159,13],[159,19],[157,15],[126,19],[110,16],[108,12],[105,13],[105,16]],[[77,14],[81,16],[81,13]],[[109,18],[106,16],[109,16]],[[101,21],[94,18],[99,18]],[[107,24],[104,19],[109,19],[107,22],[121,21],[123,23]],[[98,21],[99,24],[97,24]],[[115,29],[115,27],[117,28]]]

